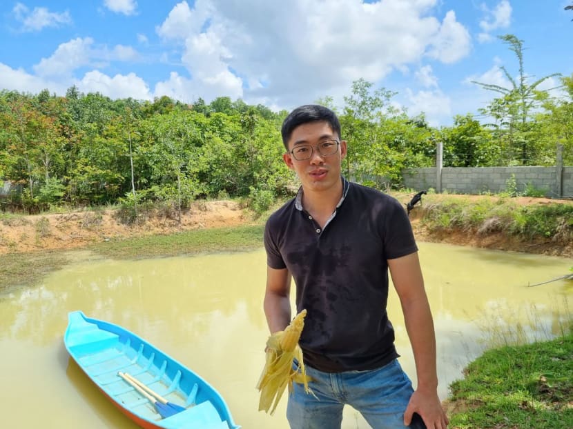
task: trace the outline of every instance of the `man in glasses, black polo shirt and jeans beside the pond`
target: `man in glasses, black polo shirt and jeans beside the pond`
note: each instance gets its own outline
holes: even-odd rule
[[[291,428],[340,428],[349,404],[374,429],[411,424],[447,428],[437,394],[436,341],[414,235],[400,203],[341,176],[347,142],[322,106],[301,106],[282,124],[286,165],[298,174],[297,196],[266,223],[264,312],[272,332],[307,309],[300,346],[314,395],[295,383],[286,416]],[[388,270],[414,351],[414,392],[397,361],[388,321]]]

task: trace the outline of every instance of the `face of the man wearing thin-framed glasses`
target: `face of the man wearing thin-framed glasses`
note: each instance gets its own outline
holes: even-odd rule
[[[305,190],[327,190],[340,183],[340,166],[347,153],[346,141],[340,141],[340,145],[336,145],[336,152],[327,156],[321,155],[317,149],[320,143],[339,139],[327,122],[304,123],[293,130],[289,152],[282,158],[286,166],[298,174]],[[291,151],[309,145],[312,147],[310,158],[302,161],[295,159]]]

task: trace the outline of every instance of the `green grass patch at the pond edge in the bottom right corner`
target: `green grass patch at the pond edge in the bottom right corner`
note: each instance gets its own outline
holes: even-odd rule
[[[571,429],[573,333],[488,350],[450,388],[451,428]]]

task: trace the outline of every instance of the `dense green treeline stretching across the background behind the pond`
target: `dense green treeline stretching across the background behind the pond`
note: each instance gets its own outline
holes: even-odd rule
[[[329,97],[318,102],[337,110],[349,141],[344,174],[399,187],[403,168],[434,166],[438,141],[445,166],[554,165],[558,142],[573,165],[573,76],[560,78],[568,94],[561,99],[538,90],[545,79],[511,80],[512,88],[478,83],[498,95],[483,109],[489,122],[467,114],[443,128],[394,107],[394,92],[363,79],[342,108]],[[137,215],[146,202],[180,212],[195,199],[244,197],[264,210],[295,185],[282,161],[286,114],[229,97],[187,105],[168,97],[112,100],[75,87],[65,97],[3,90],[0,181],[21,188],[3,208],[122,203]]]

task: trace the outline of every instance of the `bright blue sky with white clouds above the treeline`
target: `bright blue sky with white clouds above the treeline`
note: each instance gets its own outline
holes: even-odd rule
[[[518,73],[498,36],[523,40],[530,82],[573,73],[569,0],[0,1],[0,89],[184,103],[242,99],[275,111],[353,81],[432,126],[478,114]],[[559,86],[559,77],[541,88]]]

